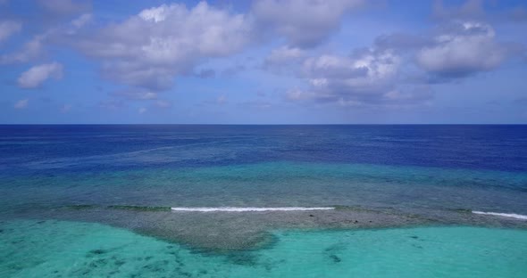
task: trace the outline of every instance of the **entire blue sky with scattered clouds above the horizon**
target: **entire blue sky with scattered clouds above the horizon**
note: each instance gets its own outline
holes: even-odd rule
[[[525,124],[525,1],[0,0],[0,124]]]

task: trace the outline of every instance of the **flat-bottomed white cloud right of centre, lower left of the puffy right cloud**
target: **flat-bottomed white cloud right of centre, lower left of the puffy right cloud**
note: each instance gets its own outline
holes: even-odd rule
[[[306,58],[298,77],[305,87],[290,89],[291,102],[327,102],[341,106],[409,105],[430,100],[428,86],[400,83],[402,57],[384,49],[367,49],[349,56],[322,54]]]

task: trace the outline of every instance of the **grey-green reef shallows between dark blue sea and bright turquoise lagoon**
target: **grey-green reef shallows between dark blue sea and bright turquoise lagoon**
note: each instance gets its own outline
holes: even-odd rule
[[[268,230],[284,228],[527,228],[527,221],[471,213],[527,215],[523,172],[277,161],[12,175],[1,176],[0,184],[4,184],[0,220],[98,222],[208,249],[252,249],[269,241]],[[171,207],[222,206],[338,209],[235,214],[170,211]]]

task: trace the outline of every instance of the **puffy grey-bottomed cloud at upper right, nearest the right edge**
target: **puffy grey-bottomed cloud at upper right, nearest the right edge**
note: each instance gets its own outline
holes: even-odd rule
[[[417,63],[423,70],[445,77],[464,77],[478,71],[493,70],[506,58],[495,31],[488,24],[457,22],[434,37],[434,44],[423,47]]]

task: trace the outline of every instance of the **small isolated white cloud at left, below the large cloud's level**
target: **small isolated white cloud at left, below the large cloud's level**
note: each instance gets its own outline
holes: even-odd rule
[[[23,72],[21,77],[18,78],[18,85],[22,88],[36,88],[48,78],[60,79],[62,77],[63,65],[58,62],[52,62],[34,66]]]

